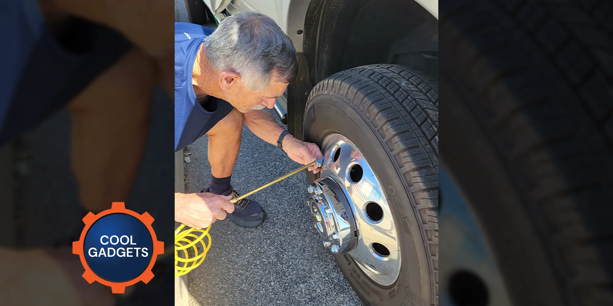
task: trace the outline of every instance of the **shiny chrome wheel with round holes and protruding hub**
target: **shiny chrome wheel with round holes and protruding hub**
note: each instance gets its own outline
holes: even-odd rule
[[[381,185],[359,149],[333,133],[322,144],[320,178],[308,188],[314,227],[334,254],[348,253],[376,283],[400,275],[400,244]]]

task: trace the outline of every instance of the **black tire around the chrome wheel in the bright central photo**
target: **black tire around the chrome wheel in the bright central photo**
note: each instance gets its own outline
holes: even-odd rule
[[[396,283],[380,286],[350,256],[335,256],[365,305],[438,305],[437,105],[435,81],[389,64],[338,72],[308,98],[305,141],[349,138],[386,186],[394,214],[402,256]]]

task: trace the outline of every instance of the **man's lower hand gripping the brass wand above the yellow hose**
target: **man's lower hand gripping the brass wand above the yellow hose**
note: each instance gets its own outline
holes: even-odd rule
[[[207,228],[216,220],[224,220],[226,212],[234,212],[232,196],[213,193],[175,193],[175,221],[191,228]]]

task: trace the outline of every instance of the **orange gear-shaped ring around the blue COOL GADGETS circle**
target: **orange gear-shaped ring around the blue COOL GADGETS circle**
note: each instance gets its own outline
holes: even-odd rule
[[[111,215],[111,214],[131,215],[132,217],[137,218],[140,222],[143,223],[143,225],[147,227],[147,230],[151,234],[151,241],[153,242],[153,251],[151,252],[151,261],[148,264],[145,271],[143,271],[142,274],[140,274],[138,277],[132,278],[131,280],[128,280],[126,282],[110,282],[109,280],[105,280],[104,278],[99,277],[99,275],[97,275],[91,270],[85,258],[84,243],[85,243],[86,234],[90,230],[91,226],[97,220],[107,215]],[[151,280],[151,278],[153,278],[154,276],[153,272],[151,272],[151,269],[153,268],[153,265],[155,264],[156,259],[158,258],[158,255],[161,255],[164,253],[164,242],[158,241],[157,236],[155,232],[153,231],[153,227],[151,226],[153,221],[154,221],[153,217],[151,217],[151,215],[148,214],[148,212],[145,212],[142,215],[140,215],[135,211],[126,209],[124,202],[113,202],[111,209],[102,211],[99,214],[93,214],[92,212],[89,212],[85,217],[83,217],[83,223],[85,223],[85,228],[83,228],[83,231],[81,232],[81,236],[79,240],[72,242],[72,253],[79,255],[81,259],[81,263],[83,264],[83,267],[85,268],[85,272],[83,273],[83,278],[85,278],[85,280],[90,284],[93,283],[95,280],[103,285],[109,286],[113,293],[124,293],[127,286],[134,285],[135,283],[138,283],[140,281],[142,281],[143,283],[148,283]],[[132,240],[132,237],[130,237],[130,241],[131,240]],[[101,241],[102,241],[102,238],[101,238]],[[113,253],[113,255],[115,255],[115,253]]]

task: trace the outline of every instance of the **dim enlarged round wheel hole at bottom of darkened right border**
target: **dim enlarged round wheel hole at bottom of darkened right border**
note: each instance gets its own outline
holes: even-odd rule
[[[449,295],[457,306],[486,306],[489,292],[481,277],[471,271],[457,271],[449,279]]]

